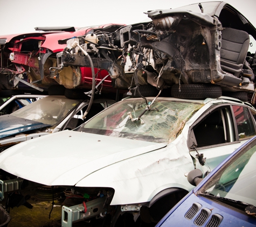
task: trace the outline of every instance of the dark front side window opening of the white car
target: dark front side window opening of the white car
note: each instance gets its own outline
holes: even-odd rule
[[[197,147],[224,144],[234,141],[234,127],[230,107],[211,111],[193,127]]]

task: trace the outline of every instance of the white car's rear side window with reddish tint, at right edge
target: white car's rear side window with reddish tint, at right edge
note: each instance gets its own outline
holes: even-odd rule
[[[255,136],[255,128],[250,111],[246,107],[232,106],[236,118],[239,140]]]

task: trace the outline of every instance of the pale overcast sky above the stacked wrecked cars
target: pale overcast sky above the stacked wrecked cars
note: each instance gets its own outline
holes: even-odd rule
[[[0,0],[0,35],[33,32],[39,26],[85,27],[134,24],[149,19],[144,12],[174,9],[198,0]],[[204,0],[203,2],[207,2]],[[256,27],[256,0],[225,1]]]

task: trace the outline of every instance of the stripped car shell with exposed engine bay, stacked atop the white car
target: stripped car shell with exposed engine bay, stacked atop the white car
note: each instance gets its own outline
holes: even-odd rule
[[[67,40],[67,47],[57,54],[56,73],[66,67],[89,67],[89,55],[94,67],[108,70],[114,88],[139,94],[146,84],[158,90],[172,87],[171,95],[177,98],[254,92],[255,52],[247,51],[256,30],[231,5],[205,2],[147,14],[151,22],[112,33],[95,31],[94,42]],[[202,86],[206,94],[191,94]]]

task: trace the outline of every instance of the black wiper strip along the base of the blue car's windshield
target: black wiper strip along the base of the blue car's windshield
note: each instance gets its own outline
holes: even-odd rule
[[[256,207],[254,207],[254,205],[252,205],[252,204],[245,203],[245,202],[242,202],[239,200],[231,200],[231,198],[216,196],[211,193],[199,193],[197,195],[209,197],[212,200],[222,201],[226,204],[232,205],[236,208],[239,208],[239,209],[245,211],[247,215],[256,217]]]

